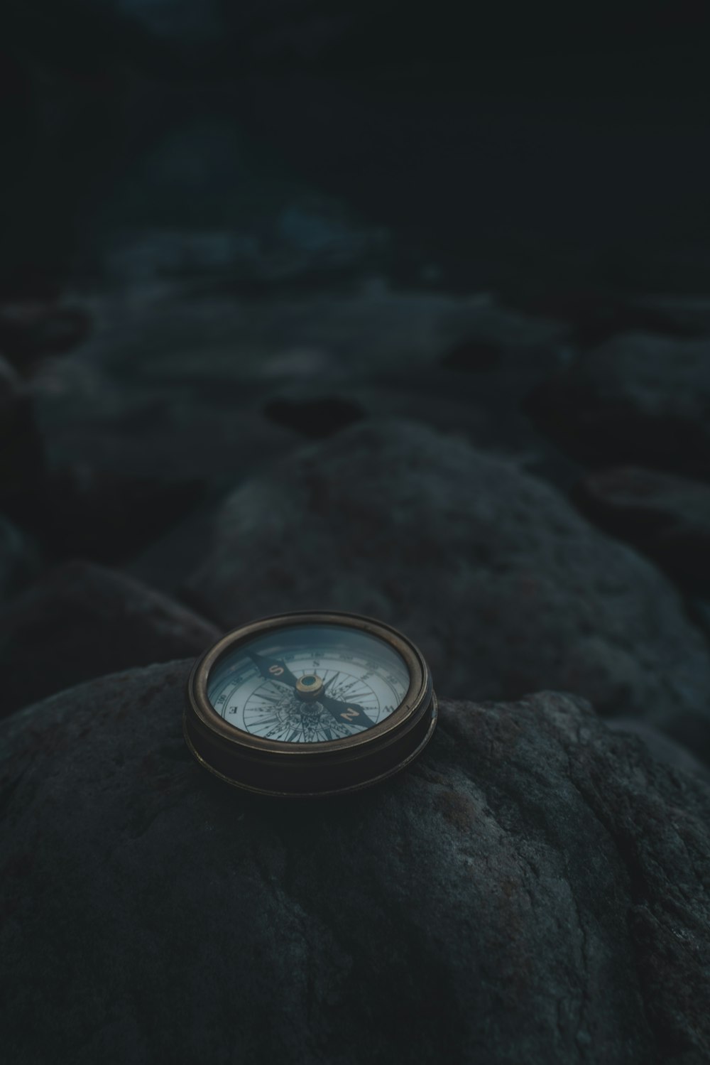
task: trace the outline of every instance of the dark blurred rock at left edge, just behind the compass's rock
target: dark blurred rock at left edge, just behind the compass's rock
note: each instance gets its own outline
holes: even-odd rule
[[[0,611],[0,717],[90,677],[196,656],[218,637],[138,580],[67,562]]]

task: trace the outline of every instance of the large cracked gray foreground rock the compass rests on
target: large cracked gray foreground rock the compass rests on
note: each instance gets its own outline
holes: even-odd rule
[[[259,801],[181,735],[189,662],[0,727],[13,1065],[710,1054],[710,792],[555,693],[443,702],[424,756]]]

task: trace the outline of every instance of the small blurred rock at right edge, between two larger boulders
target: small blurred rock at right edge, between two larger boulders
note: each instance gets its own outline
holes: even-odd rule
[[[694,592],[710,590],[710,486],[639,466],[589,474],[577,486],[580,510],[635,544]]]

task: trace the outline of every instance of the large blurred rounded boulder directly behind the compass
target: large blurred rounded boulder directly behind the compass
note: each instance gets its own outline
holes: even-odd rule
[[[710,659],[668,581],[547,485],[422,426],[354,426],[240,488],[189,592],[225,626],[371,615],[451,695],[554,686],[710,748]]]

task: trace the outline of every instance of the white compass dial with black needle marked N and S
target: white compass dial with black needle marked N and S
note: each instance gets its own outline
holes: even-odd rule
[[[210,671],[208,699],[252,736],[324,743],[384,721],[409,686],[407,662],[384,640],[343,625],[297,624],[222,655]]]

